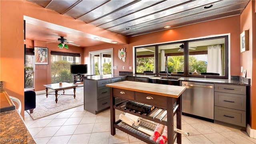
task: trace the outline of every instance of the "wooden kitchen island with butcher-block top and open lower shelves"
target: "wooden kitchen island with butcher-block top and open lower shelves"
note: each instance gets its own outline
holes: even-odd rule
[[[134,81],[116,82],[106,84],[106,86],[110,87],[111,135],[116,134],[117,128],[148,144],[156,144],[156,142],[150,140],[148,134],[141,132],[136,127],[123,124],[121,120],[116,121],[115,109],[117,109],[167,126],[168,144],[173,144],[176,138],[177,143],[181,144],[181,134],[174,132],[173,117],[176,114],[176,128],[181,130],[181,94],[186,89],[185,87]],[[115,98],[122,98],[126,101],[115,104]],[[149,104],[155,106],[155,108],[149,114],[140,114],[140,112],[134,112],[125,107],[128,100]],[[152,123],[145,124],[144,128],[146,125],[149,125],[148,130],[153,131],[155,128]]]

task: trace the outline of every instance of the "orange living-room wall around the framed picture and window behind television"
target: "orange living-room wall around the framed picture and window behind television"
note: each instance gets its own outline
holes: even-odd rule
[[[48,48],[48,65],[35,65],[34,80],[35,91],[45,90],[44,84],[51,83],[51,51],[79,53],[81,64],[84,64],[83,48],[69,45],[68,49],[60,49],[58,43],[45,43],[40,41],[25,40],[26,48],[43,47]]]

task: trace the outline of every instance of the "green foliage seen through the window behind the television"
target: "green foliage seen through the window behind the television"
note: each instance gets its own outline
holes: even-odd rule
[[[68,82],[73,83],[73,74],[70,73],[71,62],[55,61],[52,62],[52,83]]]

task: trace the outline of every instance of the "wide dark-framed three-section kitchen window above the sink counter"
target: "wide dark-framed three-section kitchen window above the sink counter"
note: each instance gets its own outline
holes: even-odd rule
[[[135,57],[136,74],[228,78],[228,36],[136,47]]]

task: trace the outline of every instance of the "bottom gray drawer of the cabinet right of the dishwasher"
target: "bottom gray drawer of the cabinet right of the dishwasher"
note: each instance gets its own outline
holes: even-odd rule
[[[246,112],[214,106],[214,120],[246,127]]]

